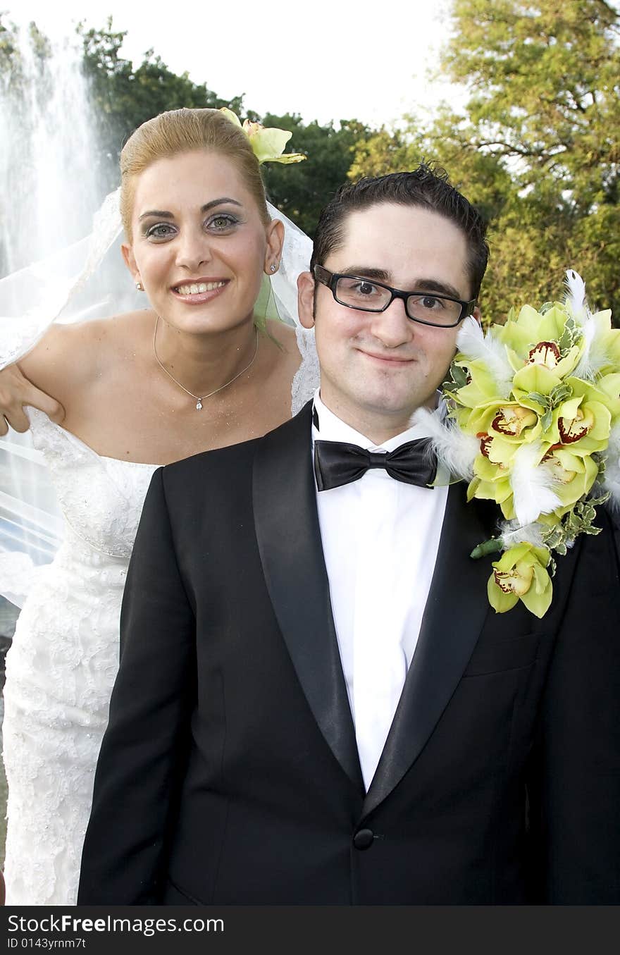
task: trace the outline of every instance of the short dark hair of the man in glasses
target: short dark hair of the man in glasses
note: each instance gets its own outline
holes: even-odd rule
[[[471,202],[450,183],[445,170],[426,162],[411,172],[366,177],[341,185],[319,217],[310,271],[314,265],[323,265],[330,252],[343,244],[345,222],[352,212],[381,202],[417,205],[457,225],[467,240],[471,297],[478,298],[489,255],[486,223]]]

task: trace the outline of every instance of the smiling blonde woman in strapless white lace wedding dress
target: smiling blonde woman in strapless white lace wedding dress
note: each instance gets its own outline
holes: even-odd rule
[[[3,412],[19,430],[23,402],[56,419],[64,410],[62,427],[29,413],[65,536],[37,570],[7,657],[13,905],[75,903],[120,600],[153,472],[263,435],[317,384],[303,330],[255,308],[281,265],[284,226],[269,216],[246,133],[217,110],[164,113],[128,140],[120,168],[122,253],[150,307],[53,325],[3,372],[13,382]]]

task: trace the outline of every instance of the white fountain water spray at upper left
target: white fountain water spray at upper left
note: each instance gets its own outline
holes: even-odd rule
[[[102,199],[79,38],[17,30],[10,64],[0,75],[2,275],[81,239]]]

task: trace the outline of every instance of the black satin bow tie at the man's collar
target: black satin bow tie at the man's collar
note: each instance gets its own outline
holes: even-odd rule
[[[366,451],[356,444],[342,441],[314,442],[314,474],[319,491],[350,484],[365,475],[369,468],[385,468],[390,477],[426,487],[437,473],[437,458],[431,450],[431,438],[407,441],[387,454]]]

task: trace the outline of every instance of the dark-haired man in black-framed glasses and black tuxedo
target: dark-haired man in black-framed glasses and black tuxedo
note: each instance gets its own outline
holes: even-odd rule
[[[486,256],[425,166],[343,187],[299,282],[320,393],[154,476],[80,904],[620,902],[605,515],[543,620],[496,615],[495,507],[429,487],[409,423]]]

